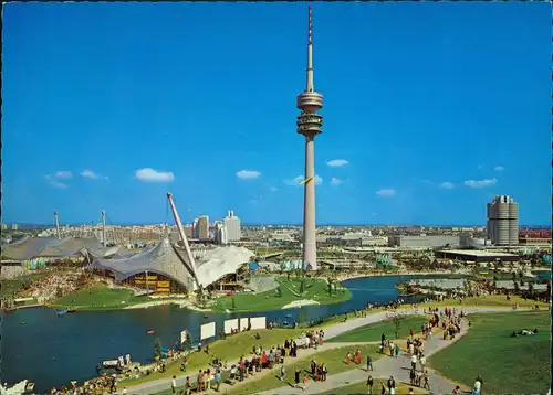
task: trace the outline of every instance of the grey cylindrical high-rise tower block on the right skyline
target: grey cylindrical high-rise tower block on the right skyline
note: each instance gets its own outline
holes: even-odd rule
[[[519,244],[519,203],[495,196],[488,203],[488,238],[495,245]]]

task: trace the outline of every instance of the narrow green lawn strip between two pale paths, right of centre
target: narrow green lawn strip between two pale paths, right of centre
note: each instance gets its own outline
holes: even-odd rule
[[[407,316],[403,318],[399,321],[399,339],[407,338],[411,328],[415,333],[420,332],[420,325],[426,321],[427,319],[422,316]],[[386,339],[396,339],[395,332],[396,327],[394,322],[390,320],[386,320],[361,327],[349,332],[345,332],[336,338],[328,339],[328,342],[373,342],[379,341],[383,333],[386,334]]]

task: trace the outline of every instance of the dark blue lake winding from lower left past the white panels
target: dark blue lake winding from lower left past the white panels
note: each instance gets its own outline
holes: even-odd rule
[[[434,276],[432,276],[434,277]],[[397,298],[396,285],[413,276],[367,277],[347,280],[352,298],[345,302],[306,308],[309,319],[330,317],[362,309],[368,301],[388,302]],[[293,322],[299,309],[267,312],[211,313],[178,307],[156,307],[116,311],[77,312],[58,317],[48,308],[17,310],[2,316],[1,366],[2,383],[13,384],[24,378],[35,382],[35,391],[69,385],[71,380],[83,382],[96,374],[96,364],[129,353],[134,361],[148,362],[154,340],[173,346],[180,331],[188,329],[197,342],[200,324],[239,317],[262,317],[269,321]],[[286,317],[292,314],[292,317]],[[25,324],[21,325],[20,322]],[[154,329],[155,335],[146,334]]]

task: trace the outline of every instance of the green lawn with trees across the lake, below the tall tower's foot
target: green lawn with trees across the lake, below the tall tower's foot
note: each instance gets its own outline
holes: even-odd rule
[[[236,293],[232,297],[221,297],[215,301],[211,309],[215,311],[267,311],[279,310],[283,306],[302,299],[313,299],[321,305],[340,303],[348,300],[351,293],[347,289],[336,291],[328,296],[327,285],[325,280],[316,278],[305,278],[305,290],[300,293],[301,278],[278,277],[275,279],[280,284],[282,295],[279,296],[278,290],[273,289],[262,293]],[[234,300],[234,307],[232,306]]]

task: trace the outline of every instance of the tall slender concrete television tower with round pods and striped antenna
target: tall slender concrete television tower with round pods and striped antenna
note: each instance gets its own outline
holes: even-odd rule
[[[305,137],[305,182],[303,201],[303,261],[316,270],[315,229],[315,136],[321,134],[323,95],[315,92],[313,83],[313,11],[309,7],[307,70],[305,90],[298,95],[298,132]]]

